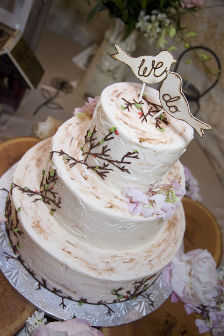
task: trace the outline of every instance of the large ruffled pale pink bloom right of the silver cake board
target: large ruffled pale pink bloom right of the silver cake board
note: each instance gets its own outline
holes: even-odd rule
[[[179,298],[188,312],[192,306],[210,305],[218,295],[216,262],[207,250],[178,251],[163,276],[175,294],[173,302]]]

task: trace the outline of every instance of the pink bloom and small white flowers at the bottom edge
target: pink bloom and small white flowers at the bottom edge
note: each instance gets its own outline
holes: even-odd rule
[[[26,327],[18,336],[104,336],[97,328],[91,327],[85,319],[72,319],[46,324],[44,312],[35,311],[26,320]]]

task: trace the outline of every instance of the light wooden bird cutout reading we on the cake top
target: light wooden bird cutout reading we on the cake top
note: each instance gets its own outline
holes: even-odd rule
[[[117,54],[112,54],[111,57],[127,64],[134,75],[147,84],[161,82],[166,77],[166,70],[170,70],[171,65],[177,63],[177,60],[167,50],[160,51],[156,56],[132,57],[118,44],[114,46]]]

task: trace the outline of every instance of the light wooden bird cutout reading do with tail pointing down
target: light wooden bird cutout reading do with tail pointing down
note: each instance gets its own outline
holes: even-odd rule
[[[167,70],[166,75],[159,91],[159,99],[164,111],[176,119],[186,121],[201,137],[204,137],[203,129],[211,129],[211,127],[191,114],[187,99],[182,92],[181,77]]]

